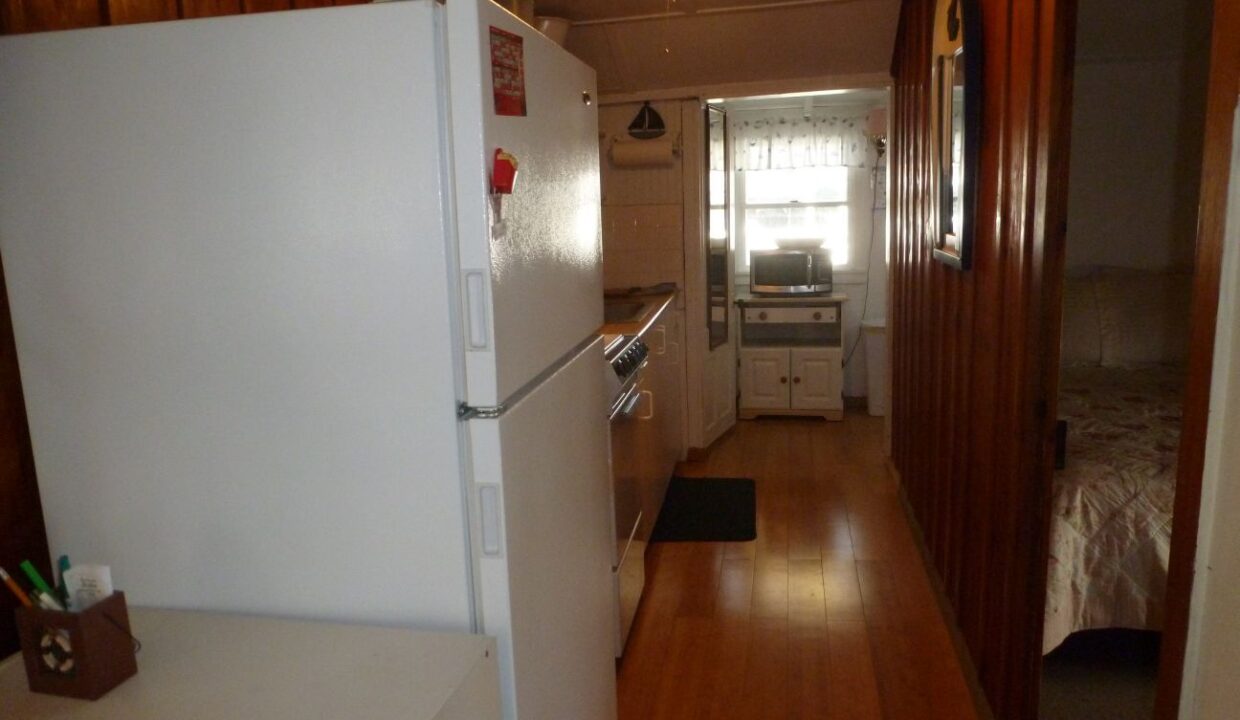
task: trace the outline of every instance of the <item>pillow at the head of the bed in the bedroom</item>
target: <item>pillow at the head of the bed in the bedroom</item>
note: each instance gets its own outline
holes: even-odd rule
[[[1097,278],[1102,366],[1183,363],[1193,276],[1104,269]]]

